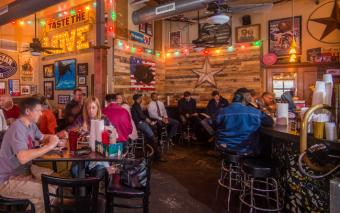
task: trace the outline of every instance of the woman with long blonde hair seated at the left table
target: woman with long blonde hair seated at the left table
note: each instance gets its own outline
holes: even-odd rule
[[[84,107],[83,107],[83,113],[76,118],[76,120],[66,128],[68,132],[71,131],[85,131],[88,134],[90,133],[91,128],[91,119],[103,119],[105,128],[107,129],[113,129],[113,126],[111,125],[110,121],[102,116],[101,112],[101,106],[99,103],[98,98],[96,97],[89,97],[86,99]],[[105,175],[105,168],[108,167],[109,164],[107,162],[85,162],[85,173],[93,176],[102,178]],[[71,167],[71,175],[72,177],[77,177],[78,174],[78,165],[72,164]]]

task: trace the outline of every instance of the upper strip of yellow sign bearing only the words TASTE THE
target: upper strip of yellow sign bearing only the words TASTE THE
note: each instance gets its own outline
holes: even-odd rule
[[[89,13],[85,11],[61,19],[51,20],[46,25],[46,32],[58,30],[87,20],[89,20]]]

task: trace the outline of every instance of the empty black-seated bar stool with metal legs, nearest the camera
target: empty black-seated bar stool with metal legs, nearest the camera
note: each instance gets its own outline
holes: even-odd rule
[[[279,166],[275,162],[260,159],[246,159],[242,163],[244,172],[243,191],[240,195],[242,204],[253,210],[279,212],[283,208],[283,199],[279,198],[279,185],[274,178],[279,174]],[[266,201],[266,206],[263,205]],[[261,206],[262,204],[262,206]]]

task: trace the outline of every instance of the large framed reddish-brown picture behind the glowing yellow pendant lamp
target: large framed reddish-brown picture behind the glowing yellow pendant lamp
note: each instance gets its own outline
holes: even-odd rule
[[[269,52],[277,56],[288,56],[293,33],[296,41],[297,55],[301,55],[301,16],[270,20],[268,22]]]

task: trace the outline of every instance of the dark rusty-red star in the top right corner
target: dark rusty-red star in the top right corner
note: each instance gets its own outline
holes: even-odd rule
[[[332,14],[330,17],[327,18],[315,18],[311,19],[311,21],[318,22],[320,24],[325,24],[326,29],[323,31],[320,40],[324,39],[326,36],[328,36],[330,33],[332,33],[334,30],[338,29],[340,30],[340,7],[338,4],[338,1],[334,1],[334,7],[332,9]]]

